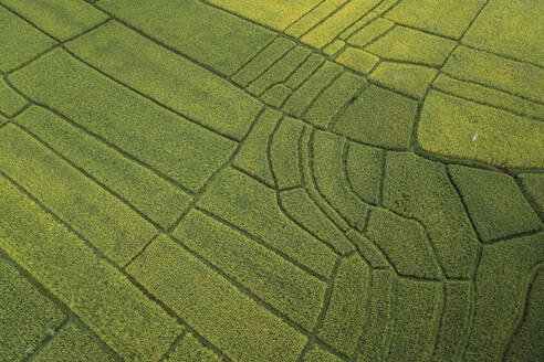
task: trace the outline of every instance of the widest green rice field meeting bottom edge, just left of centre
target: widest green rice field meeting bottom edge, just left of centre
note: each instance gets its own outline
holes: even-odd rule
[[[229,358],[293,360],[306,337],[161,235],[127,268]]]

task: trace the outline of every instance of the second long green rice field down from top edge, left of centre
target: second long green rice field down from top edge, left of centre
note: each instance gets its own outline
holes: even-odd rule
[[[118,22],[108,22],[66,47],[113,78],[237,140],[262,108],[227,81]]]

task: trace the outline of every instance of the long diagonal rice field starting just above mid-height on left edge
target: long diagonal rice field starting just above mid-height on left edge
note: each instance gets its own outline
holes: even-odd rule
[[[13,125],[0,132],[0,171],[119,265],[157,234],[126,204]]]

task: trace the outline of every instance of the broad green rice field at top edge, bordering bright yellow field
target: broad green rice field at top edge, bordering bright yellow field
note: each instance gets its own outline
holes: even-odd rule
[[[154,40],[226,76],[234,74],[274,36],[265,28],[200,0],[160,3],[100,0],[98,6],[151,34]]]

